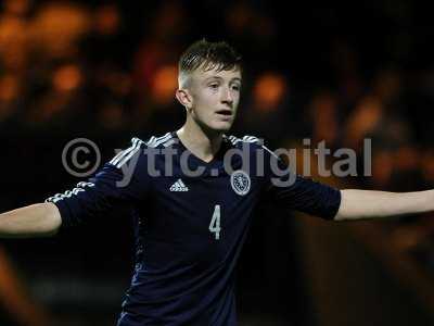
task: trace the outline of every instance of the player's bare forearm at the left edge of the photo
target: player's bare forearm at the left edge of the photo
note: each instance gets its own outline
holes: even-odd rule
[[[1,238],[54,235],[62,224],[55,204],[39,203],[0,214]]]

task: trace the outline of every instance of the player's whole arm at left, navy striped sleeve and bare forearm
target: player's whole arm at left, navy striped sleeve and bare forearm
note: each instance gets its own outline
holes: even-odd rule
[[[0,238],[54,235],[61,225],[68,227],[82,220],[103,216],[119,203],[140,202],[148,191],[149,178],[146,168],[136,167],[146,161],[140,151],[141,142],[133,138],[131,143],[130,148],[119,152],[94,177],[78,183],[74,189],[50,197],[44,203],[0,214]],[[130,164],[135,160],[129,178],[126,178],[122,164],[116,163],[116,160],[120,160],[122,164]]]

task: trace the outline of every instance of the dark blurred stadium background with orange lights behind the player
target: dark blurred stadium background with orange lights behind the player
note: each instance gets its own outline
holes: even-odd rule
[[[61,160],[74,138],[107,161],[133,136],[178,128],[177,59],[203,37],[245,60],[234,135],[359,152],[370,137],[372,177],[321,180],[434,185],[434,28],[420,2],[0,3],[0,212],[77,184]],[[239,264],[240,325],[433,325],[431,215],[332,225],[260,208]],[[119,211],[54,238],[1,240],[0,325],[114,325],[130,226]]]

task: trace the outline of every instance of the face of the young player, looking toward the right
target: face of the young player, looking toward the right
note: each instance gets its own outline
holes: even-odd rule
[[[188,87],[191,96],[191,108],[188,112],[202,127],[208,130],[228,131],[235,118],[240,102],[241,72],[203,71],[191,73]]]

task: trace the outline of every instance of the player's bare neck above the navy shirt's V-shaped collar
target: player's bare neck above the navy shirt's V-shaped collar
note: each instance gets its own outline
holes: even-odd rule
[[[214,159],[224,136],[220,131],[205,130],[191,118],[187,118],[186,124],[177,130],[177,135],[190,152],[205,162]]]

